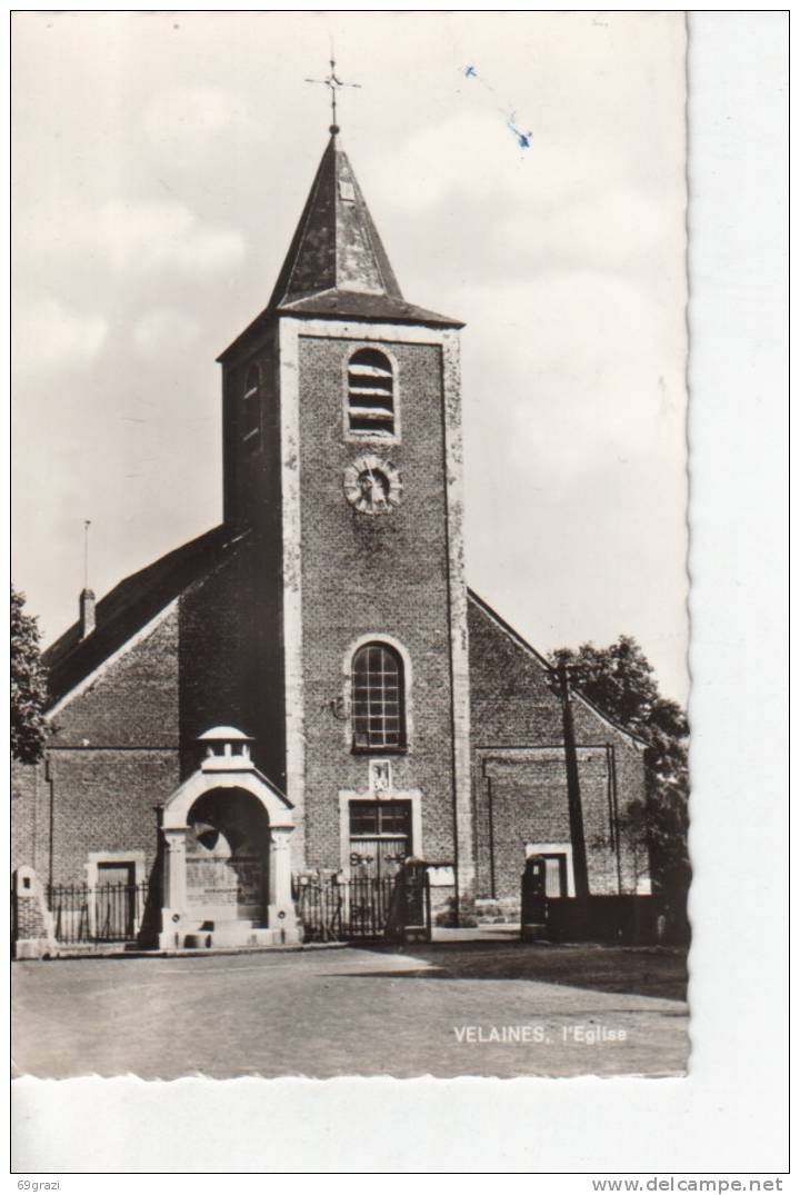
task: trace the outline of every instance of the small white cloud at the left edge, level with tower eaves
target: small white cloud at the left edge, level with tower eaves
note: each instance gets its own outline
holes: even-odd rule
[[[109,325],[101,315],[70,311],[56,299],[18,302],[13,315],[14,367],[26,373],[87,366]]]

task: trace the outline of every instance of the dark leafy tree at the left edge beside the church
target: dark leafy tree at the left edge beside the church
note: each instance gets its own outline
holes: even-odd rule
[[[11,587],[11,754],[37,764],[44,752],[47,678],[36,618],[25,613],[25,594]]]

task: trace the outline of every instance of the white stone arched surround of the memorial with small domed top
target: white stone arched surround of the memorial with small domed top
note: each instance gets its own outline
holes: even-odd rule
[[[215,727],[201,735],[205,754],[196,772],[180,784],[164,805],[164,895],[161,950],[187,945],[284,945],[300,942],[291,897],[289,840],[295,828],[294,807],[251,759],[252,740],[234,727]],[[195,914],[186,890],[186,838],[190,811],[199,797],[214,790],[239,790],[258,801],[269,820],[269,895],[264,924],[232,918],[209,923]],[[213,927],[211,927],[213,926]]]

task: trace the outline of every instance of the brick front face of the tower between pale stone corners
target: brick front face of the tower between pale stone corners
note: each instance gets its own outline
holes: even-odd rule
[[[402,442],[346,442],[345,361],[361,342],[300,337],[302,635],[306,693],[306,846],[310,866],[339,866],[338,791],[368,791],[368,758],[331,703],[344,693],[351,643],[383,632],[411,658],[410,749],[394,788],[423,793],[423,850],[451,859],[453,731],[441,350],[388,343],[398,362]],[[401,473],[400,505],[358,515],[344,473],[363,453]],[[414,850],[419,850],[414,844]]]

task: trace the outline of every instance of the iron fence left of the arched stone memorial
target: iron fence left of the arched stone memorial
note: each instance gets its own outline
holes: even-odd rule
[[[49,884],[48,908],[64,945],[134,942],[142,925],[148,884]]]

